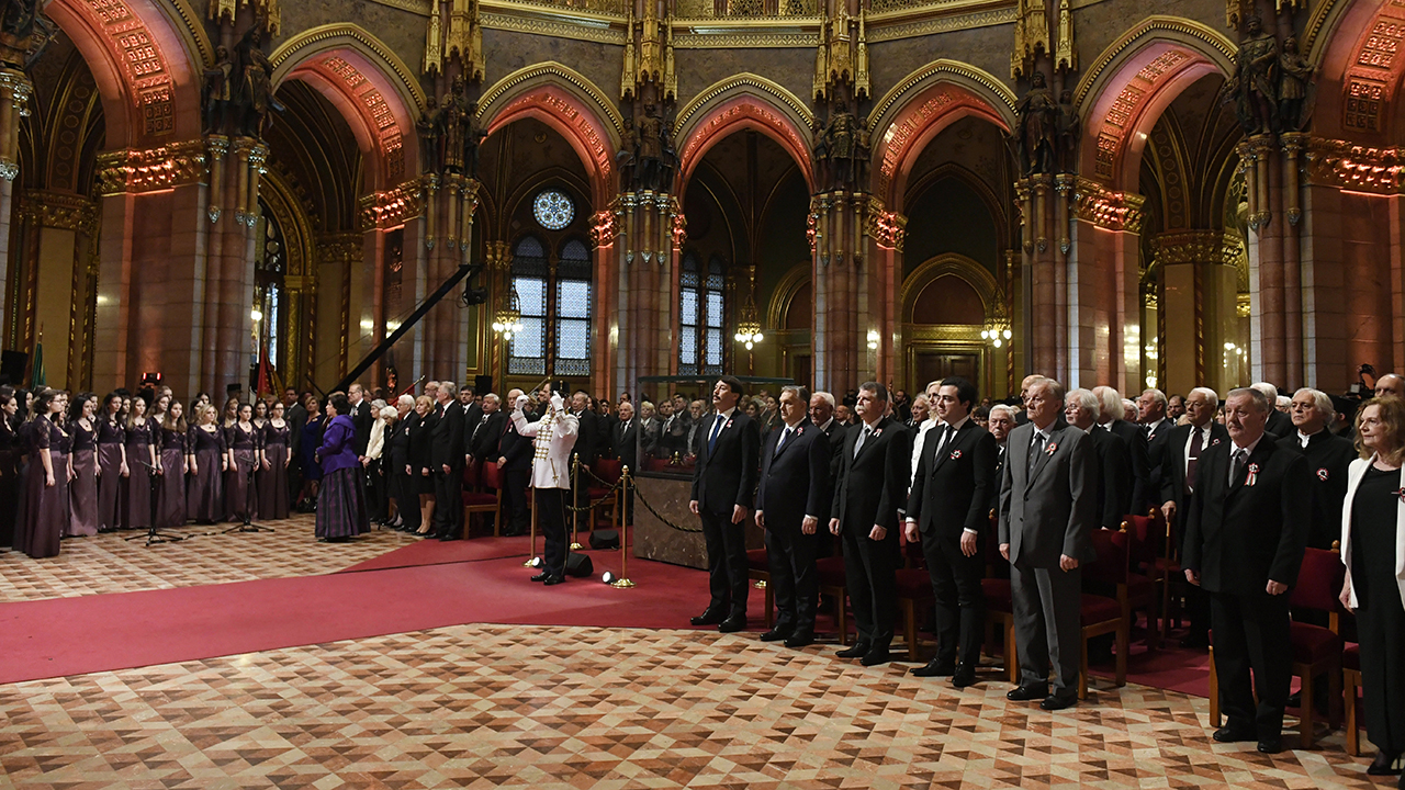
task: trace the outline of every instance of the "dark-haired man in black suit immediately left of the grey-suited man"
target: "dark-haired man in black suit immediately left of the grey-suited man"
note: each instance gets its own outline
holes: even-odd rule
[[[923,439],[906,505],[908,543],[920,536],[937,609],[937,655],[912,673],[950,675],[957,689],[975,683],[981,663],[981,548],[991,529],[991,489],[998,485],[999,451],[991,432],[971,419],[975,402],[975,385],[958,377],[943,380],[936,398],[929,395],[929,409],[940,422]]]

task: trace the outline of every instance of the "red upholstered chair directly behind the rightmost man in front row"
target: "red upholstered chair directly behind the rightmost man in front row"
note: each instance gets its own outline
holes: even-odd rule
[[[1346,568],[1342,565],[1335,545],[1333,541],[1332,550],[1308,548],[1304,551],[1298,583],[1288,590],[1288,604],[1293,609],[1316,609],[1328,613],[1326,627],[1294,621],[1288,638],[1293,651],[1293,675],[1302,679],[1298,741],[1304,749],[1311,749],[1314,741],[1314,678],[1325,673],[1329,685],[1328,699],[1342,697],[1342,652],[1346,644],[1339,634],[1342,603],[1336,596],[1342,592]],[[1220,678],[1215,675],[1214,634],[1211,633],[1210,637],[1210,723],[1220,727]],[[1335,706],[1329,713],[1329,724],[1333,730],[1340,724]]]

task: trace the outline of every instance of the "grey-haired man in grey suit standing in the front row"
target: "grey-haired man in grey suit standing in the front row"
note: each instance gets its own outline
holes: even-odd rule
[[[1057,425],[1064,387],[1028,388],[1030,422],[1010,432],[1000,484],[1000,554],[1010,561],[1020,685],[1006,697],[1043,697],[1044,710],[1078,701],[1083,562],[1094,559],[1097,454],[1076,427]],[[1050,665],[1057,669],[1050,690]]]

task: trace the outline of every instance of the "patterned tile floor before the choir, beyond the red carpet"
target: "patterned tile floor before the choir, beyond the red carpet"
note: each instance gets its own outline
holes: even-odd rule
[[[74,537],[46,559],[6,551],[0,554],[0,602],[330,574],[422,540],[371,530],[350,543],[318,543],[311,514],[267,526],[274,531],[218,534],[228,526],[190,526],[177,531],[200,537],[150,548],[145,540],[124,540],[142,534],[136,531]],[[216,534],[204,534],[209,531]]]

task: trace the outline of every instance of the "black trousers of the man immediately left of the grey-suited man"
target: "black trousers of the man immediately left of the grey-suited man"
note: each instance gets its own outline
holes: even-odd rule
[[[936,595],[937,662],[960,661],[971,668],[981,663],[981,637],[985,635],[985,559],[976,552],[961,552],[961,538],[939,536],[934,530],[922,533],[922,554],[927,558],[927,575]]]

